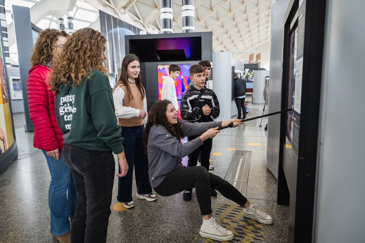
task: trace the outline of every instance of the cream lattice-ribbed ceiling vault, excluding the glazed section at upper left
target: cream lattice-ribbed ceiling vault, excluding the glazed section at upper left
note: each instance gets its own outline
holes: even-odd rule
[[[85,0],[88,1],[88,0]],[[117,15],[128,15],[147,30],[161,30],[160,0],[97,0]],[[213,51],[236,59],[270,40],[271,7],[276,0],[195,0],[195,31],[213,33]],[[173,0],[173,29],[181,33],[181,0]]]

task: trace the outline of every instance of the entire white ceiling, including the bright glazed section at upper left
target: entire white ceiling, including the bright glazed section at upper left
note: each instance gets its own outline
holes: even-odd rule
[[[75,30],[88,26],[100,30],[100,9],[149,32],[160,32],[160,1],[5,0],[10,52],[16,49],[11,19],[13,4],[29,7],[32,22],[40,28],[57,28],[58,17],[66,20],[67,16],[72,16]],[[213,51],[231,52],[234,59],[240,60],[247,52],[270,40],[271,7],[275,1],[195,0],[195,31],[212,31]],[[174,33],[183,32],[181,5],[182,0],[173,0]]]

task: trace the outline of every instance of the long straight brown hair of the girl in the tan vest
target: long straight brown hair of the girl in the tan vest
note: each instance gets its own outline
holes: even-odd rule
[[[129,100],[134,99],[134,95],[132,93],[132,90],[129,86],[129,82],[128,82],[128,64],[133,62],[133,61],[137,61],[139,62],[138,56],[135,54],[128,54],[126,56],[124,56],[123,60],[122,60],[122,68],[120,69],[120,75],[118,78],[118,82],[116,82],[115,87],[113,89],[113,92],[115,90],[116,87],[118,86],[126,86],[126,93],[128,96]],[[139,72],[138,77],[135,79],[135,83],[139,92],[140,97],[142,98],[142,100],[145,98],[145,89],[143,88],[142,82],[141,82],[141,72]]]

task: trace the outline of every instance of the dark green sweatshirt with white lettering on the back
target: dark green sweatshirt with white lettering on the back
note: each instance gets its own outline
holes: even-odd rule
[[[57,125],[64,144],[99,151],[122,153],[122,129],[117,125],[108,77],[92,70],[82,85],[61,83],[55,98]]]

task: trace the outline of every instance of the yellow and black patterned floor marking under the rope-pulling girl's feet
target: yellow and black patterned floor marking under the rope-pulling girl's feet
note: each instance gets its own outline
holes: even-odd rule
[[[265,226],[257,220],[247,218],[243,215],[243,209],[236,205],[218,204],[217,210],[215,211],[216,217],[219,218],[218,224],[233,231],[234,238],[229,243],[240,242],[240,243],[256,243],[264,242]],[[207,239],[205,243],[210,242],[222,242]],[[228,242],[227,242],[228,243]]]

